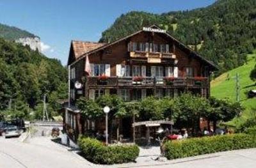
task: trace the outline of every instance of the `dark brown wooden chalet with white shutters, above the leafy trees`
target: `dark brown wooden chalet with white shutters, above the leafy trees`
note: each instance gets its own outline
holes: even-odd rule
[[[90,61],[90,75],[85,72],[86,57]],[[144,27],[113,43],[72,41],[68,66],[71,105],[80,96],[95,99],[104,94],[116,94],[125,101],[150,95],[173,98],[184,91],[209,97],[209,75],[216,70],[210,61],[156,26]],[[76,89],[76,82],[83,87]],[[72,128],[70,125],[76,122],[80,133],[99,126],[77,124],[77,114],[74,112],[76,121],[72,123],[66,114],[66,125]]]

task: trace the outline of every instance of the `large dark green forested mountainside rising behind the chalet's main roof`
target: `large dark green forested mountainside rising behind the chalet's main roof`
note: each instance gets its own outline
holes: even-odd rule
[[[113,42],[156,24],[226,72],[246,62],[256,47],[256,1],[219,0],[206,8],[156,15],[131,11],[102,33],[100,42]]]

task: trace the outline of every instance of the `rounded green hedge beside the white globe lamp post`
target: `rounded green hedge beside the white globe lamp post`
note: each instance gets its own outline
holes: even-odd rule
[[[136,145],[106,146],[97,139],[79,137],[78,145],[84,158],[95,164],[122,164],[134,162],[140,149]]]

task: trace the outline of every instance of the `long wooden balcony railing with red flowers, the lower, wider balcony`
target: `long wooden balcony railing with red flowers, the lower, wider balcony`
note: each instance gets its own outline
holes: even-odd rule
[[[207,77],[86,77],[88,87],[167,87],[167,88],[207,88]]]

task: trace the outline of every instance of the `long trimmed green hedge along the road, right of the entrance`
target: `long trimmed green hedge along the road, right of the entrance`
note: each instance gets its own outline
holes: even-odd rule
[[[169,160],[255,147],[256,139],[248,134],[216,135],[213,137],[191,138],[182,141],[168,141],[164,144],[165,157]]]

